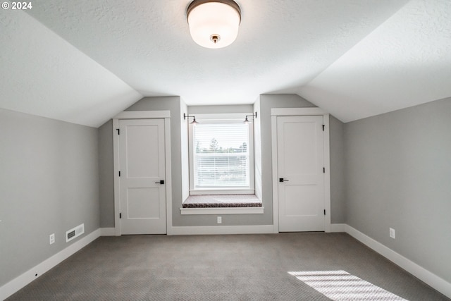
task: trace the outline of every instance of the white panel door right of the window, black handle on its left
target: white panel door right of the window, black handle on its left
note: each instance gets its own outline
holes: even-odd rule
[[[324,231],[323,116],[277,118],[279,231]]]

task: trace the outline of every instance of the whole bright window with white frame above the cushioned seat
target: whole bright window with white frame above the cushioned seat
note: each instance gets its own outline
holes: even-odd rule
[[[253,194],[252,123],[215,115],[190,125],[190,194]]]

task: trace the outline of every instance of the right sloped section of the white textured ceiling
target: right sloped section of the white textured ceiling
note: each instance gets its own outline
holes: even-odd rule
[[[451,97],[451,1],[410,1],[297,94],[343,122]]]

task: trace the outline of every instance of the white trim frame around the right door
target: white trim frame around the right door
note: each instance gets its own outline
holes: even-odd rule
[[[271,140],[273,160],[273,231],[279,233],[278,211],[278,151],[277,151],[277,117],[278,116],[323,116],[324,135],[324,206],[326,217],[324,221],[325,232],[330,232],[330,144],[329,144],[329,113],[319,108],[277,108],[271,109]]]

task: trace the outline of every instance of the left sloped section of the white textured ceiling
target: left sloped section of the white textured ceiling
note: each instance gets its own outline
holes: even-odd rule
[[[22,11],[0,15],[0,107],[98,127],[142,98]]]

